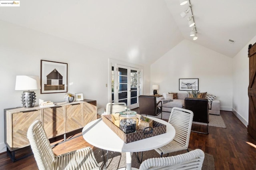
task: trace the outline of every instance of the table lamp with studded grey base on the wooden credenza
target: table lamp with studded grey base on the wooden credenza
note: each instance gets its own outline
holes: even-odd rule
[[[28,90],[23,91],[21,96],[21,103],[23,107],[30,108],[34,107],[36,103],[36,93],[29,90],[41,89],[40,81],[38,76],[29,75],[17,75],[15,90]]]

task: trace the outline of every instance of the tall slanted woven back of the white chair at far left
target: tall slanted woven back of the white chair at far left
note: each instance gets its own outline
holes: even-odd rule
[[[39,169],[52,170],[55,155],[41,121],[35,121],[28,128],[28,140]]]

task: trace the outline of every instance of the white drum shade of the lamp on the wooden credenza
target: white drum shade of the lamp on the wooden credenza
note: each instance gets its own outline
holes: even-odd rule
[[[15,90],[36,90],[41,89],[38,76],[17,75]]]

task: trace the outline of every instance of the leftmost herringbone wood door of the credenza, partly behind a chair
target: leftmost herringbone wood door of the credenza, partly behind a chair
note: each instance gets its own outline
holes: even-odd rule
[[[28,128],[34,121],[42,121],[41,115],[41,110],[12,114],[12,146],[10,147],[13,150],[30,145],[27,138]]]

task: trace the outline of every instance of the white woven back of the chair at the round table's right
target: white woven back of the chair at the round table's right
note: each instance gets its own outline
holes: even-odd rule
[[[176,131],[174,140],[186,148],[189,144],[193,115],[190,110],[174,107],[168,121]]]

